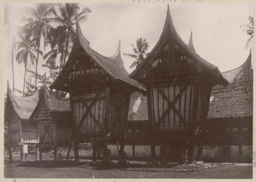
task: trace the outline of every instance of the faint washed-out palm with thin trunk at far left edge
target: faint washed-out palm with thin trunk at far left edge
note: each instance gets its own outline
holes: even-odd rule
[[[11,49],[12,49],[12,91],[14,92],[14,65],[13,65],[13,52],[14,52],[14,42],[15,42],[15,37],[14,37],[14,30],[15,30],[15,25],[12,20],[12,11],[11,8],[6,4],[5,5],[5,32],[6,35],[8,36]]]

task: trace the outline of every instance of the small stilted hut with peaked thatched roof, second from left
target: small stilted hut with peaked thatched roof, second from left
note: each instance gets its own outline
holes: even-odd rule
[[[68,146],[69,155],[74,128],[69,98],[57,98],[56,93],[49,91],[45,84],[40,90],[39,100],[30,120],[38,127],[40,160],[43,146],[54,146],[54,160],[58,146]]]

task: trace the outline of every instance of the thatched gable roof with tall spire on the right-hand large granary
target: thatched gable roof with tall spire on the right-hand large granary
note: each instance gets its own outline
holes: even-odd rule
[[[204,70],[213,80],[215,80],[217,84],[221,84],[224,86],[228,85],[228,82],[223,78],[218,67],[210,64],[209,62],[201,58],[195,52],[195,50],[188,47],[188,45],[185,44],[180,38],[174,27],[172,16],[170,15],[169,11],[169,6],[167,8],[167,15],[160,39],[158,40],[155,47],[152,49],[151,53],[149,53],[143,60],[143,62],[130,74],[130,77],[137,79],[138,75],[143,72],[149,65],[152,64],[152,62],[154,61],[154,55],[157,55],[159,53],[161,47],[164,46],[166,40],[168,40],[170,36],[181,47],[181,49],[184,50],[188,58],[190,58],[194,61],[195,64],[200,66],[202,70]]]

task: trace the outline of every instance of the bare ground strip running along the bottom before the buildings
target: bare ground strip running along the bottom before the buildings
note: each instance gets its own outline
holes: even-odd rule
[[[252,164],[204,163],[204,165],[152,164],[129,161],[119,166],[92,165],[90,160],[69,162],[5,163],[5,178],[252,178]]]

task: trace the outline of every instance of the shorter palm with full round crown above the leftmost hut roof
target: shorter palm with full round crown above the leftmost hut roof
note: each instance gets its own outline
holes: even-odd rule
[[[26,83],[26,73],[28,66],[28,58],[30,59],[32,65],[36,60],[35,53],[42,54],[40,50],[37,49],[36,40],[32,39],[31,32],[29,29],[24,29],[22,35],[20,35],[20,41],[16,42],[17,50],[19,52],[16,55],[16,60],[19,64],[24,63],[25,73],[24,73],[24,84],[23,84],[23,96],[25,96],[25,83]]]

